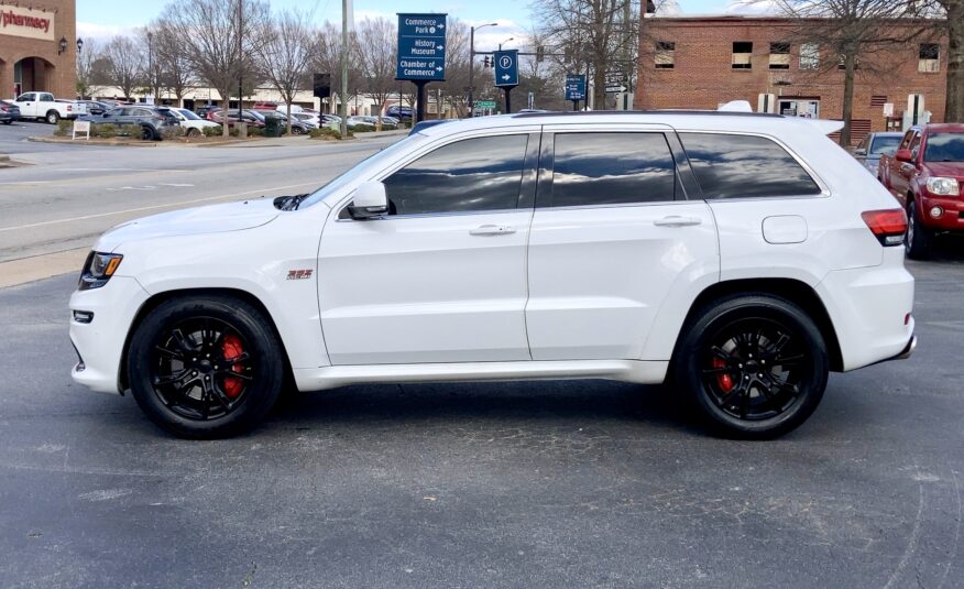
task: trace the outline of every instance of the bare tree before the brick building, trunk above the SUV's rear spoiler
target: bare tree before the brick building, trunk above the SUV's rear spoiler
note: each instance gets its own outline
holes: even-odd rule
[[[819,68],[844,72],[844,127],[840,144],[851,144],[854,83],[857,74],[891,69],[901,57],[896,47],[928,34],[933,23],[917,20],[911,3],[895,0],[769,0],[784,14],[797,19],[793,35],[817,43],[829,58]],[[911,10],[914,10],[913,12]],[[883,57],[881,57],[883,55]]]

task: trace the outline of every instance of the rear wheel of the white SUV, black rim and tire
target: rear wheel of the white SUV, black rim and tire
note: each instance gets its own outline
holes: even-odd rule
[[[820,329],[800,307],[744,294],[715,301],[688,321],[671,378],[712,430],[770,439],[810,417],[829,366]]]

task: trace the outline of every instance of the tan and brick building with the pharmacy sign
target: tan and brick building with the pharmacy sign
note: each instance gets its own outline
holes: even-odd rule
[[[0,98],[75,97],[76,13],[74,0],[0,0]]]

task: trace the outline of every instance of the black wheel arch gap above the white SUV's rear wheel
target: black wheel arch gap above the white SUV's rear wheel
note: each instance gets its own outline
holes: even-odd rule
[[[679,345],[682,341],[687,329],[695,320],[697,313],[713,301],[719,301],[723,297],[733,295],[770,295],[785,298],[793,303],[811,318],[820,329],[823,341],[826,343],[826,353],[830,360],[830,370],[833,372],[843,371],[843,353],[841,352],[840,340],[836,336],[836,330],[833,327],[833,321],[830,319],[830,314],[820,295],[806,282],[796,279],[738,279],[714,283],[704,288],[690,305],[690,310],[687,313],[686,320],[682,324],[677,335],[676,345],[673,346],[672,360],[676,359],[679,350]]]

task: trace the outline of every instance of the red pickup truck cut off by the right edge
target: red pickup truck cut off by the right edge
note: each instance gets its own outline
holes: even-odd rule
[[[907,211],[910,258],[928,258],[935,233],[964,232],[964,124],[912,127],[880,156],[879,176]]]

